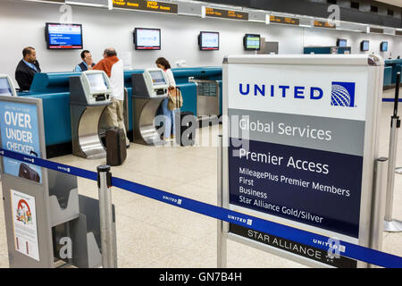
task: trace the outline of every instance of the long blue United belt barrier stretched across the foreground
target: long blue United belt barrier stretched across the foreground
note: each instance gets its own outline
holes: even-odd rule
[[[66,172],[71,175],[97,181],[97,172],[91,172],[65,164],[57,164],[45,159],[26,156],[20,153],[4,150],[2,148],[0,148],[0,156],[10,157],[22,162],[27,162],[29,164],[36,164],[47,169],[52,169],[58,172]],[[271,233],[272,235],[281,237],[283,239],[294,240],[298,243],[303,243],[315,248],[321,248],[325,251],[332,249],[332,245],[327,243],[327,241],[330,240],[329,237],[309,231],[302,231],[280,223],[272,223],[255,216],[241,214],[226,208],[199,202],[191,198],[180,197],[160,189],[150,188],[120,178],[113,177],[112,185],[114,187],[125,189],[147,198],[153,198],[172,206],[179,206],[197,214],[205,214],[228,223],[235,223],[255,231]],[[320,243],[316,243],[314,241],[319,241]],[[343,257],[350,257],[368,264],[380,265],[382,267],[402,268],[402,257],[394,256],[372,248],[364,248],[343,240],[339,240],[339,245],[344,247],[344,251],[339,253]]]

